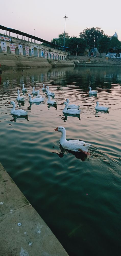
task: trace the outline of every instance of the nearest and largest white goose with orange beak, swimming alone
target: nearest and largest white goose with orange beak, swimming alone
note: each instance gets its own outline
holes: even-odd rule
[[[56,132],[61,132],[61,138],[60,138],[60,144],[63,148],[72,150],[72,151],[80,151],[86,155],[90,155],[88,153],[88,148],[91,146],[91,144],[87,144],[84,141],[79,140],[66,140],[66,129],[63,126],[58,126],[56,129],[54,129]]]

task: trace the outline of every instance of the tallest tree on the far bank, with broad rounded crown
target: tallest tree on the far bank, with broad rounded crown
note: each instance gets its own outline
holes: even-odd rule
[[[104,32],[101,28],[86,28],[80,34],[79,37],[87,40],[87,45],[89,48],[97,47],[98,40],[104,35]]]

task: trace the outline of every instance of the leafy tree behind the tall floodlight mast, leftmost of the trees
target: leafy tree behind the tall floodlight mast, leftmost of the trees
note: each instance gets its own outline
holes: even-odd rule
[[[66,46],[66,47],[68,47],[69,38],[70,38],[69,34],[65,32],[65,46]],[[59,35],[58,35],[58,38],[53,38],[53,39],[51,40],[51,42],[52,42],[53,44],[56,43],[56,44],[58,44],[58,45],[63,46],[63,45],[64,45],[64,33],[59,34]]]

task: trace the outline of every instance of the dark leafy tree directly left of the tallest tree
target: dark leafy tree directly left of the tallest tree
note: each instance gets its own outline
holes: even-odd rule
[[[78,49],[77,49],[78,45]],[[70,37],[68,47],[70,48],[72,55],[79,55],[80,53],[83,53],[85,48],[87,47],[87,41],[86,39],[81,39],[77,37]]]

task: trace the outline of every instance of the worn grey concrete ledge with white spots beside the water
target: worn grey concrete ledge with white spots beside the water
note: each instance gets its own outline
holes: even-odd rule
[[[68,256],[0,163],[0,255]]]

